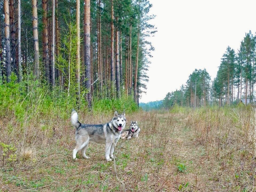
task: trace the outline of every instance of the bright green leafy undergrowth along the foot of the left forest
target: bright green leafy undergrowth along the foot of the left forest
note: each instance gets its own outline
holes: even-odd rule
[[[61,87],[55,86],[50,90],[49,86],[38,81],[34,77],[24,78],[21,83],[17,82],[15,75],[11,76],[11,82],[0,84],[0,117],[10,117],[14,114],[18,122],[38,118],[42,116],[59,117],[67,119],[71,110],[77,108],[75,91],[67,93]],[[88,111],[87,102],[81,97],[80,109]],[[119,99],[93,99],[94,113],[113,113],[117,110],[122,113],[138,111],[139,108],[131,96],[123,96]],[[8,115],[9,114],[9,115]]]

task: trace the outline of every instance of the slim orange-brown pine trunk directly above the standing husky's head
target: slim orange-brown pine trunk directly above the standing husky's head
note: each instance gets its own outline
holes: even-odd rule
[[[115,18],[118,23],[118,17]],[[115,81],[117,86],[117,98],[120,98],[120,70],[119,70],[119,30],[115,30]]]

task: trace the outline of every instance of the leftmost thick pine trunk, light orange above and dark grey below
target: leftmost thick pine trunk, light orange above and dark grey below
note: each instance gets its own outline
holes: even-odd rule
[[[10,75],[11,75],[11,50],[10,50],[9,0],[4,0],[4,11],[5,11],[6,77],[7,77],[7,82],[10,82]]]

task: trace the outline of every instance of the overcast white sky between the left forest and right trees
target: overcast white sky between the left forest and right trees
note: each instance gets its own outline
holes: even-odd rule
[[[194,69],[216,76],[227,46],[236,52],[249,30],[256,31],[254,0],[150,0],[150,21],[158,32],[152,52],[147,93],[140,102],[161,100],[185,85]]]

